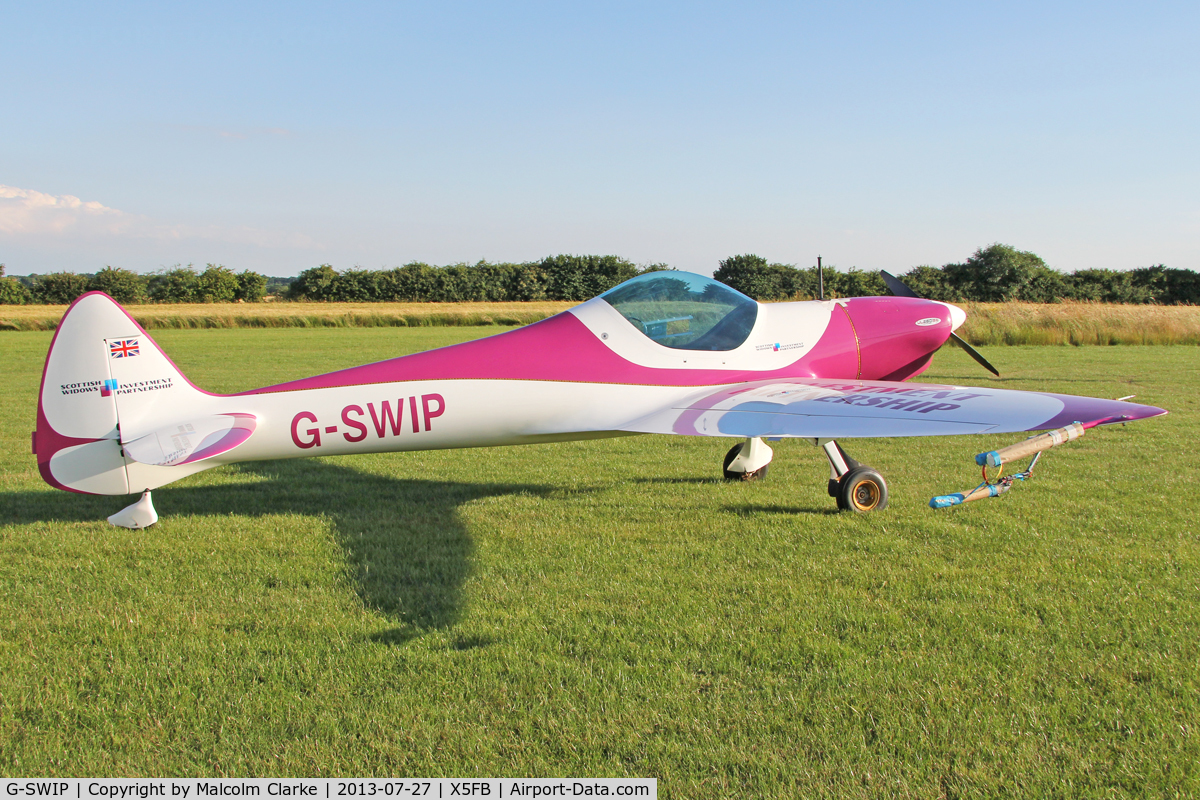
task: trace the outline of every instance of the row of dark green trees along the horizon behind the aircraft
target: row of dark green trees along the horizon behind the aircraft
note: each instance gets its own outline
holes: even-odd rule
[[[582,301],[643,272],[666,269],[665,264],[638,266],[617,255],[551,255],[520,264],[432,266],[414,261],[390,270],[341,272],[322,264],[295,278],[268,278],[248,270],[235,273],[220,264],[209,264],[204,270],[175,266],[144,276],[109,266],[94,275],[55,272],[6,278],[0,265],[0,305],[61,305],[92,290],[122,303],[259,302],[268,294],[308,302]],[[752,254],[721,260],[714,277],[756,300],[804,300],[818,293],[815,266],[772,264]],[[1159,264],[1068,275],[1008,245],[980,247],[961,264],[917,266],[901,278],[920,296],[947,302],[1200,303],[1200,273],[1193,270]],[[827,267],[824,291],[827,297],[888,294],[878,272],[854,267],[845,272]]]

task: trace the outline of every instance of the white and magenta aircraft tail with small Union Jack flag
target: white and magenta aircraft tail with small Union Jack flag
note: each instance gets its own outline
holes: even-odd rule
[[[37,467],[50,486],[86,494],[169,483],[253,432],[253,416],[217,414],[218,398],[193,386],[115,300],[91,291],[67,308],[46,356]]]

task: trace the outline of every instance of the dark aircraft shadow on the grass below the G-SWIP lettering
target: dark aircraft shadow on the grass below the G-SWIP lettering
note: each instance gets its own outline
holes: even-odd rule
[[[311,459],[247,462],[232,469],[269,480],[160,489],[155,493],[160,524],[190,515],[330,518],[364,604],[402,625],[372,638],[394,644],[460,618],[474,547],[458,506],[480,498],[546,497],[557,491],[388,477]],[[0,522],[31,524],[95,522],[133,498],[17,492],[6,499],[12,501],[12,512],[0,516]],[[150,528],[145,535],[154,531]]]

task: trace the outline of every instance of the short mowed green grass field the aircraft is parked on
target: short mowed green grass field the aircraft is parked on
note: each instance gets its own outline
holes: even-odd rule
[[[494,329],[163,331],[235,391]],[[728,440],[636,437],[222,468],[132,498],[44,486],[48,333],[7,333],[5,775],[654,776],[664,796],[1193,796],[1200,535],[1193,348],[956,349],[922,379],[1102,397],[997,500],[986,438],[846,441],[761,483]]]

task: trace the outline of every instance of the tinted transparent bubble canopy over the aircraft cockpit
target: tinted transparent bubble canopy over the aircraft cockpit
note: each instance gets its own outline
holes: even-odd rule
[[[692,272],[647,272],[600,297],[648,338],[676,350],[734,350],[758,318],[757,302]]]

